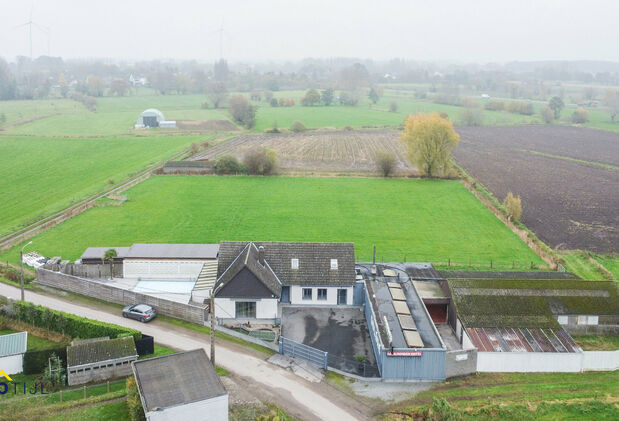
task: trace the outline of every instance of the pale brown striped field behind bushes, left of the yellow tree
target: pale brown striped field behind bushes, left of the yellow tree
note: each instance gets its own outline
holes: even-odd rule
[[[213,160],[222,155],[242,159],[252,148],[264,146],[277,152],[279,168],[290,172],[376,173],[376,151],[397,157],[397,172],[414,173],[406,149],[393,130],[311,131],[240,136],[210,148],[190,160]]]

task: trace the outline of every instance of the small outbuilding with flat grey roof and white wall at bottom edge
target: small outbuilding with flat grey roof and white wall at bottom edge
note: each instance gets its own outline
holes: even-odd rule
[[[204,349],[133,363],[149,421],[228,420],[228,392]]]

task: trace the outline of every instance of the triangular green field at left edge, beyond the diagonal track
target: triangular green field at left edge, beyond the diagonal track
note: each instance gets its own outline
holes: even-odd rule
[[[0,235],[207,138],[211,137],[0,137]]]

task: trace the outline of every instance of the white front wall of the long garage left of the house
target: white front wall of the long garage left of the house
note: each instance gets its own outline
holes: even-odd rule
[[[192,279],[198,278],[202,265],[209,260],[139,260],[123,261],[125,278]]]

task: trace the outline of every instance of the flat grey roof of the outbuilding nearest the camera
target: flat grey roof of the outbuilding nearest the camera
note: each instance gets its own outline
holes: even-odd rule
[[[145,412],[227,394],[204,349],[136,361],[133,373]]]

